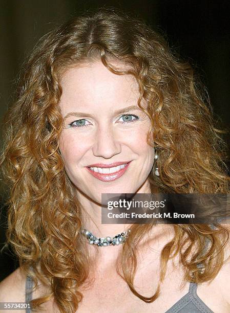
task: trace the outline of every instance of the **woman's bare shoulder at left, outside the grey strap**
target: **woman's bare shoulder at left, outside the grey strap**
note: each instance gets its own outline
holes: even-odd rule
[[[0,283],[0,302],[25,302],[26,275],[18,267]]]

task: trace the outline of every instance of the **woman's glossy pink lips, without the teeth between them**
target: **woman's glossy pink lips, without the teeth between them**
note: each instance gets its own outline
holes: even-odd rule
[[[121,164],[125,164],[128,162],[115,162],[115,163],[111,163],[111,164],[91,164],[90,167],[101,167],[101,168],[109,168],[109,167],[115,167]],[[117,172],[114,172],[112,174],[101,174],[101,173],[97,173],[94,172],[90,169],[90,167],[87,167],[87,170],[94,176],[96,177],[98,180],[103,181],[103,182],[110,182],[110,181],[114,181],[117,180],[117,178],[119,178],[121,175],[124,174],[124,172],[127,170],[127,168],[129,167],[131,161],[126,164],[126,166],[122,169],[120,169]]]

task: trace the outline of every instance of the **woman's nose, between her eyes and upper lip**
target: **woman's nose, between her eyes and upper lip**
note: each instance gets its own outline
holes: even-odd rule
[[[95,133],[93,154],[95,157],[110,159],[121,152],[121,144],[112,126],[100,126]]]

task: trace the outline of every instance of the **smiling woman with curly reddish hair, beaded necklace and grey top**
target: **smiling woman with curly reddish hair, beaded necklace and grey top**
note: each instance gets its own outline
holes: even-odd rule
[[[6,126],[20,267],[1,301],[27,285],[39,312],[230,311],[227,225],[101,223],[102,193],[229,192],[210,108],[159,34],[105,9],[51,31]]]

